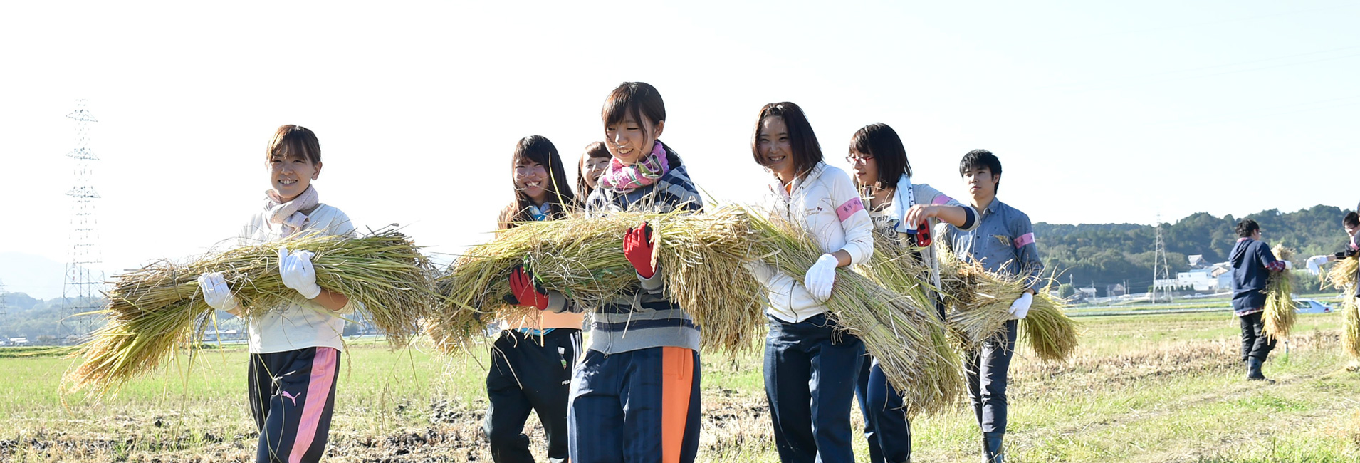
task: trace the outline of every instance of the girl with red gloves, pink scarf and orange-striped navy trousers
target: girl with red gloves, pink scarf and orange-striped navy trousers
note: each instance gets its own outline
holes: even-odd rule
[[[656,87],[619,84],[600,116],[612,159],[586,199],[588,215],[703,211],[680,155],[660,140],[666,109]],[[699,328],[665,297],[665,268],[653,264],[647,223],[630,229],[620,251],[641,287],[594,309],[590,347],[571,379],[571,462],[694,462],[700,425]]]

